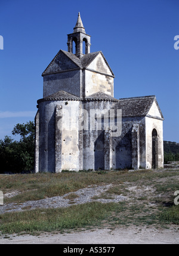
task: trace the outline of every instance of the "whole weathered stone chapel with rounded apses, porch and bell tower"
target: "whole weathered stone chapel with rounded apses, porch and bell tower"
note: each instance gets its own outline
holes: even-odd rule
[[[67,51],[42,73],[35,172],[162,168],[163,115],[155,95],[114,98],[115,75],[101,51],[90,53],[90,39],[78,14]]]

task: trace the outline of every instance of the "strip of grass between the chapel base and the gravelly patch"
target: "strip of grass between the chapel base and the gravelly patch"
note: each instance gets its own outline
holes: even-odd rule
[[[167,176],[166,176],[167,175]],[[92,184],[136,182],[139,180],[149,182],[154,178],[174,176],[175,171],[169,173],[157,173],[151,170],[135,172],[109,171],[101,175],[100,172],[63,172],[3,175],[0,179],[0,190],[5,194],[18,190],[17,196],[4,198],[5,203],[25,202],[38,200],[51,196],[61,196],[69,192],[75,192]]]

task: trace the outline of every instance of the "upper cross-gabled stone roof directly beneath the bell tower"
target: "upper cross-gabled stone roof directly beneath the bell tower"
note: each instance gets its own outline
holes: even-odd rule
[[[58,73],[58,72],[61,71],[61,70],[58,70],[58,69],[55,72],[51,71],[51,67],[53,67],[53,65],[57,65],[56,63],[57,63],[57,60],[60,57],[61,53],[66,55],[67,58],[69,58],[74,64],[76,64],[76,67],[72,67],[72,68],[68,68],[68,69],[75,69],[75,68],[78,68],[78,67],[79,67],[79,69],[87,68],[90,65],[90,63],[95,59],[95,57],[97,57],[98,54],[101,54],[101,56],[103,57],[103,60],[105,61],[105,63],[109,67],[109,70],[112,73],[112,76],[115,76],[113,74],[112,69],[110,68],[109,64],[107,63],[106,58],[104,57],[104,55],[101,51],[96,51],[94,53],[85,54],[80,60],[78,57],[76,57],[75,54],[69,53],[68,51],[63,51],[63,50],[58,51],[58,53],[55,55],[55,57],[53,58],[51,63],[48,65],[48,67],[42,73],[42,76],[49,75],[51,73]]]

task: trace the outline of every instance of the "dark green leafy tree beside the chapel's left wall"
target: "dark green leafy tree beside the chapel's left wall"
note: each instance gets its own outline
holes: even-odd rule
[[[35,152],[35,124],[17,124],[13,135],[20,135],[20,141],[5,136],[0,140],[0,161],[2,172],[32,171]]]

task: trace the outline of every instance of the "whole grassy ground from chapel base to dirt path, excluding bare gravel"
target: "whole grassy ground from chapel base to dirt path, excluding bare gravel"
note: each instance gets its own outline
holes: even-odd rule
[[[26,208],[23,212],[0,215],[0,231],[3,233],[51,232],[53,230],[78,229],[99,226],[116,227],[120,225],[150,226],[179,224],[179,207],[163,207],[163,202],[173,202],[174,192],[179,190],[179,172],[139,170],[134,172],[61,172],[1,175],[0,190],[4,193],[18,192],[4,203],[22,203],[69,193],[66,199],[73,203],[77,195],[73,192],[90,185],[112,184],[98,198],[111,199],[124,195],[128,200],[120,203],[84,203],[70,205],[68,208],[35,209]],[[129,188],[133,187],[131,190]],[[153,191],[145,190],[152,187]],[[0,206],[1,207],[1,206]]]

